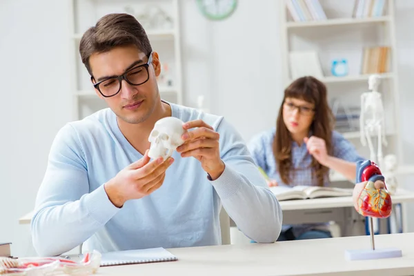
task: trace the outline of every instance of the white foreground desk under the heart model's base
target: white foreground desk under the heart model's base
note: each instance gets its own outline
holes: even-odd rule
[[[176,262],[101,267],[97,275],[414,275],[414,233],[376,235],[375,244],[400,248],[403,257],[346,261],[345,250],[370,248],[370,239],[339,237],[172,248]]]

